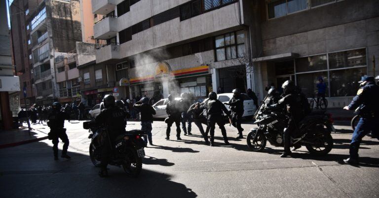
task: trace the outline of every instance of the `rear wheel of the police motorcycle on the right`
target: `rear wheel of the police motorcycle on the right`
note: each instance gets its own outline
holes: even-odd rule
[[[314,137],[315,143],[318,143],[319,146],[314,145],[306,145],[306,149],[309,151],[309,153],[314,155],[326,155],[328,154],[332,148],[333,148],[333,137],[329,133],[318,133],[315,134],[316,137]]]

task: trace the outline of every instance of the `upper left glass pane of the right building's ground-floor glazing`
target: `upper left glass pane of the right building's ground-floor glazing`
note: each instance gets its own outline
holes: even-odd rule
[[[296,59],[296,72],[328,69],[326,54]]]

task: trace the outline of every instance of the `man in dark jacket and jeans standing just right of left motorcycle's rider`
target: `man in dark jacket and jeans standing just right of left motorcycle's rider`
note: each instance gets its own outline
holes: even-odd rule
[[[144,97],[134,104],[134,108],[140,111],[141,130],[148,135],[149,144],[152,145],[152,115],[155,115],[155,109],[149,104],[149,99]],[[145,145],[148,140],[145,140]]]

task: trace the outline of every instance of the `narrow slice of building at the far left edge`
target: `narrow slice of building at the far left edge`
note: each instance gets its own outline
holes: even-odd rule
[[[12,116],[20,109],[17,92],[20,80],[12,63],[10,31],[5,1],[0,2],[0,129],[12,129]]]

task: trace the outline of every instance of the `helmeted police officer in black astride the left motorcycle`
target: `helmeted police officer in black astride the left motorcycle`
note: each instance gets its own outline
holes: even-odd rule
[[[125,133],[126,121],[125,112],[115,105],[114,96],[106,95],[103,99],[104,109],[100,111],[100,114],[96,117],[95,122],[97,124],[105,124],[107,127],[108,136],[103,139],[103,146],[101,151],[101,170],[99,175],[105,177],[108,175],[107,165],[109,162],[109,153],[114,139]],[[104,136],[103,136],[104,137]]]

